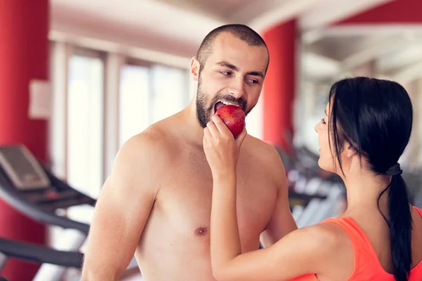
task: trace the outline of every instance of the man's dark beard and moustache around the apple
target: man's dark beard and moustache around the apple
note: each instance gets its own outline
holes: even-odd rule
[[[240,105],[241,109],[245,112],[245,115],[248,115],[253,108],[250,108],[250,110],[246,112],[246,100],[244,98],[234,98],[234,96],[228,94],[218,94],[211,100],[211,102],[207,106],[207,93],[204,93],[202,91],[201,81],[199,77],[198,90],[196,91],[196,117],[198,117],[198,122],[203,128],[205,128],[207,126],[207,123],[210,122],[210,115],[212,113],[212,109],[214,108],[215,103],[217,103],[218,100],[225,100],[229,103],[236,103]]]

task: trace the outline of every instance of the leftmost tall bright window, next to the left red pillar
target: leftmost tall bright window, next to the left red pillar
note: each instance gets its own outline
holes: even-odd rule
[[[68,77],[68,182],[91,197],[101,189],[103,60],[72,55]]]

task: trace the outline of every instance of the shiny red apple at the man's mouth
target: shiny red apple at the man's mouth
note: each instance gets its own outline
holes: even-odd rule
[[[215,112],[237,138],[245,127],[245,112],[236,105],[224,105]]]

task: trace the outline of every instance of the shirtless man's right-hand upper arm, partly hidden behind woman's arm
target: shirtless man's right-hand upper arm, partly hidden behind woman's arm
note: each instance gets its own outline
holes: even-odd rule
[[[269,247],[280,240],[283,236],[298,228],[290,211],[288,202],[288,184],[286,171],[284,170],[281,157],[275,148],[271,148],[270,157],[271,175],[274,175],[274,183],[277,188],[276,207],[271,216],[266,230],[261,235],[264,247]]]

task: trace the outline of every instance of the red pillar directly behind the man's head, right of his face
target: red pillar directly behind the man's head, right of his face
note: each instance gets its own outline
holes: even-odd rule
[[[263,34],[270,62],[263,89],[263,138],[289,150],[293,136],[293,101],[296,84],[296,20],[271,27]]]

